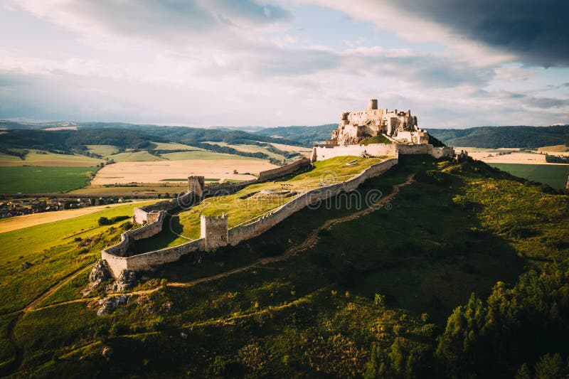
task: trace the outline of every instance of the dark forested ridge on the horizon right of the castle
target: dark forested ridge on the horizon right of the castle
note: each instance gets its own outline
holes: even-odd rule
[[[569,125],[551,127],[472,127],[468,129],[427,129],[433,137],[450,146],[498,149],[568,145]]]

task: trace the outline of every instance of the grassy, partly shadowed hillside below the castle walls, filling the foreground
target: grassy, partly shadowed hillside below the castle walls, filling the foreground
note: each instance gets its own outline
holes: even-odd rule
[[[100,248],[129,225],[84,230],[79,241],[70,238],[79,225],[61,223],[35,249],[33,228],[0,234],[12,244],[0,254],[0,368],[40,378],[565,370],[554,354],[569,353],[568,196],[478,161],[402,156],[359,188],[361,199],[411,175],[371,213],[356,197],[331,199],[200,265],[161,267],[103,317],[90,307],[102,293],[83,299],[80,289]],[[20,271],[22,260],[34,265]]]

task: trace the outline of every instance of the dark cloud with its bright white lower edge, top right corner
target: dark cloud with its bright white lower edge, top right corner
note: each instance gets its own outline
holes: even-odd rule
[[[564,0],[305,1],[372,21],[408,41],[435,41],[482,60],[569,66],[569,2]]]

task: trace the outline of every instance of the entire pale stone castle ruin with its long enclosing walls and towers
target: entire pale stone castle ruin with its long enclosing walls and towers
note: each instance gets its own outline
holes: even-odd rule
[[[364,139],[383,136],[379,143],[363,144]],[[172,201],[161,201],[142,208],[134,208],[132,220],[142,226],[121,235],[121,241],[102,250],[102,260],[106,261],[113,277],[124,271],[146,271],[153,267],[175,262],[181,256],[194,252],[209,252],[218,247],[237,245],[257,235],[265,233],[292,213],[309,204],[353,191],[368,178],[383,174],[398,164],[399,154],[430,154],[435,158],[454,157],[452,146],[433,146],[429,144],[429,134],[417,126],[417,117],[410,110],[389,112],[378,110],[378,101],[371,99],[368,109],[358,112],[344,112],[338,129],[331,134],[326,144],[315,145],[309,159],[303,158],[284,167],[260,172],[258,178],[241,183],[230,183],[213,187],[205,186],[203,176],[188,176],[188,193]],[[133,254],[132,247],[140,240],[154,237],[164,228],[164,219],[172,210],[188,209],[204,198],[235,193],[254,183],[272,181],[296,173],[312,166],[311,162],[330,159],[334,156],[378,156],[388,158],[374,164],[360,174],[340,183],[311,189],[291,201],[280,205],[269,213],[245,224],[228,228],[228,215],[201,215],[200,237],[182,245],[166,247],[161,250]]]

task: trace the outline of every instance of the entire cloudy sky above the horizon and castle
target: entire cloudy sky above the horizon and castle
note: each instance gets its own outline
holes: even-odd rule
[[[569,123],[569,1],[0,0],[0,119]]]

